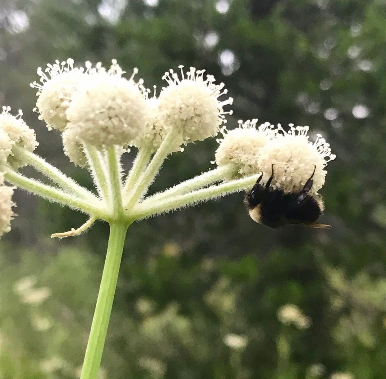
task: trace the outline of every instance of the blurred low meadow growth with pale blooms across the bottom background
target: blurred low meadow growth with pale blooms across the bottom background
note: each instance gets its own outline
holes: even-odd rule
[[[1,257],[1,377],[76,378],[101,260],[71,249],[29,250],[18,262],[12,254]],[[301,283],[280,277],[271,260],[191,263],[174,243],[146,261],[128,258],[101,378],[289,379],[313,377],[310,370],[321,362],[326,374],[381,378],[385,280],[365,272],[348,280],[325,262],[320,267]],[[267,270],[276,280],[261,274]],[[276,312],[286,303],[300,305],[309,328],[278,321]]]

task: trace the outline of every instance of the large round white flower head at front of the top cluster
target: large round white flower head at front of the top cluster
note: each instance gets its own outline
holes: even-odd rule
[[[137,70],[134,70],[134,74]],[[83,80],[66,111],[68,128],[86,144],[103,146],[132,144],[144,129],[146,103],[133,77],[121,77],[113,61],[108,72]]]

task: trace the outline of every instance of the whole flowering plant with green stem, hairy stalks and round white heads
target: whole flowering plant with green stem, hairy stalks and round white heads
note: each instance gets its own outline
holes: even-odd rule
[[[227,130],[224,107],[232,98],[224,84],[215,84],[212,75],[191,67],[180,74],[169,70],[164,75],[167,86],[159,96],[149,98],[143,80],[129,79],[115,60],[110,69],[101,64],[85,69],[74,67],[72,59],[48,64],[38,69],[37,88],[39,118],[49,129],[62,133],[64,153],[77,166],[87,169],[94,181],[96,194],[81,187],[35,153],[34,131],[5,108],[0,115],[0,190],[1,235],[10,230],[13,184],[49,201],[69,206],[87,215],[83,225],[71,231],[54,233],[63,238],[80,235],[97,220],[110,224],[105,267],[98,293],[90,337],[86,348],[81,379],[95,379],[102,359],[115,287],[119,273],[127,228],[135,221],[185,206],[197,205],[237,191],[249,190],[256,180],[266,183],[275,175],[273,188],[284,192],[304,186],[315,168],[313,193],[325,181],[325,167],[335,158],[326,141],[308,141],[307,127],[281,126],[270,123],[257,127],[257,119],[239,122]],[[147,196],[164,160],[183,151],[183,145],[202,141],[222,133],[215,153],[217,168],[188,179],[153,196]],[[124,178],[120,158],[128,146],[138,148],[132,168]],[[214,162],[213,162],[214,163]],[[53,186],[26,178],[17,170],[29,164],[52,181]]]

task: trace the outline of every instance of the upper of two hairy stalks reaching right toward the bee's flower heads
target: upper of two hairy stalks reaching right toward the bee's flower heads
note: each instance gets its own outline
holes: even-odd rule
[[[198,190],[199,188],[205,187],[208,184],[223,180],[225,175],[227,173],[231,173],[232,171],[233,168],[231,165],[215,168],[214,170],[205,172],[196,176],[195,178],[188,179],[182,183],[179,183],[169,190],[157,193],[156,195],[147,198],[147,200],[158,201],[161,199],[170,198],[171,196],[183,195],[184,193]]]

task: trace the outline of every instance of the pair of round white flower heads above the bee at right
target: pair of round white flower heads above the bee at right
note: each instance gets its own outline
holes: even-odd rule
[[[256,119],[239,121],[238,128],[223,129],[215,159],[219,167],[232,165],[231,177],[227,179],[261,172],[264,184],[271,176],[273,164],[271,187],[290,193],[300,191],[316,167],[311,189],[316,194],[325,181],[325,166],[335,159],[330,145],[320,134],[315,142],[310,142],[308,126],[289,124],[287,132],[280,124],[274,127],[269,122],[256,128],[256,122]]]

